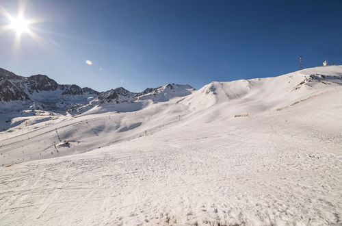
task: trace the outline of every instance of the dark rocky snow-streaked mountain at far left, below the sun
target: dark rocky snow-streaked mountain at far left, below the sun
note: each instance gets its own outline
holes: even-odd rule
[[[77,85],[60,85],[47,75],[22,77],[0,68],[1,108],[14,110],[45,106],[47,110],[67,110],[74,105],[88,103],[90,95],[98,96],[98,92]],[[43,104],[44,103],[44,104]],[[41,108],[41,107],[40,107]]]

